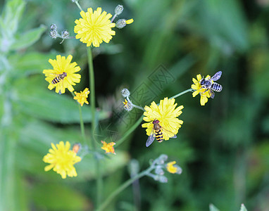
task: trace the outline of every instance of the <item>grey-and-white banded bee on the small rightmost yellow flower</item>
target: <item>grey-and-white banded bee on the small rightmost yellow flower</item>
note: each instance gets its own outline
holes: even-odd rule
[[[213,91],[220,92],[221,90],[223,90],[223,86],[214,82],[214,81],[217,81],[218,79],[220,79],[222,73],[223,72],[218,71],[215,73],[215,75],[213,75],[213,77],[208,77],[206,79],[202,78],[200,81],[201,87],[208,90],[211,98],[214,98],[214,96],[215,96],[215,93]]]

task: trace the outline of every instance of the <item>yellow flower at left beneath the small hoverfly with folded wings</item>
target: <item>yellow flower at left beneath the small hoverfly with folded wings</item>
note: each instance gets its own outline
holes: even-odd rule
[[[63,94],[65,89],[69,91],[74,91],[73,86],[75,83],[80,82],[80,74],[75,74],[75,72],[80,71],[80,67],[77,63],[70,63],[73,56],[69,55],[67,58],[65,56],[58,55],[56,60],[49,59],[53,70],[43,70],[46,76],[46,81],[49,82],[49,89],[54,89],[56,93]],[[76,67],[77,66],[77,67]]]

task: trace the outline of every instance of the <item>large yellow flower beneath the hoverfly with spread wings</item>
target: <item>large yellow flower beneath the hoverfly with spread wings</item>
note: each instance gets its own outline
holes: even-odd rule
[[[178,129],[180,129],[182,120],[177,117],[181,115],[183,106],[177,106],[175,103],[175,98],[168,99],[164,98],[160,101],[160,105],[157,106],[155,102],[151,103],[151,106],[145,106],[144,118],[143,120],[147,123],[142,124],[142,127],[146,127],[146,134],[149,136],[152,132],[154,120],[158,120],[163,130],[163,139],[168,140],[177,134]],[[168,132],[165,132],[168,131]]]

